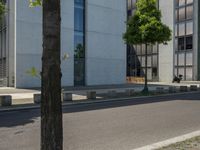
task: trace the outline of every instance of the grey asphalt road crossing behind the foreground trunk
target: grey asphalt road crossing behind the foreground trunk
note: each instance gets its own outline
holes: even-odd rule
[[[200,130],[200,93],[63,108],[64,150],[132,150]],[[0,113],[0,150],[39,150],[39,110]]]

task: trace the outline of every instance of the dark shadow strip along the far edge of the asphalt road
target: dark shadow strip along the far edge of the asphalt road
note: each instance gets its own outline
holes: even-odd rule
[[[77,104],[63,107],[63,113],[73,113],[81,111],[91,111],[99,109],[109,109],[115,107],[124,107],[131,105],[150,104],[156,102],[166,102],[174,100],[195,100],[200,102],[200,93],[186,93],[181,95],[157,96],[149,98],[133,98],[129,100],[115,100],[108,102],[98,102],[91,104]],[[26,124],[34,123],[40,117],[39,109],[21,110],[0,113],[0,128],[1,127],[15,127],[24,126]]]

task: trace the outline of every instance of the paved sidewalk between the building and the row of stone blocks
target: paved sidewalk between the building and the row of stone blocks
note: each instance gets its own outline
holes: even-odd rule
[[[162,83],[162,82],[149,82],[149,90],[154,91],[157,87],[164,87],[168,89],[169,86],[181,86],[181,85],[200,85],[200,82],[182,82],[177,83]],[[117,93],[123,93],[127,89],[134,89],[134,91],[139,92],[143,89],[143,84],[121,84],[121,85],[101,85],[101,86],[86,86],[86,87],[65,87],[65,92],[70,92],[73,95],[73,101],[86,100],[87,91],[96,91],[97,99],[104,98],[103,95],[108,91],[115,90]],[[11,95],[12,105],[24,105],[33,104],[33,95],[40,93],[40,90],[36,89],[16,89],[1,87],[0,95]],[[1,107],[0,107],[1,108]]]

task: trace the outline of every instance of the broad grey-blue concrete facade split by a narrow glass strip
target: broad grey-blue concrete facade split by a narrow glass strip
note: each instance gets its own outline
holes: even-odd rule
[[[26,72],[41,68],[42,11],[29,8],[27,0],[10,0],[13,25],[9,51],[15,87],[39,87],[40,80]],[[61,1],[62,85],[74,85],[74,0]],[[126,82],[125,32],[126,1],[86,0],[86,85],[122,84]],[[14,38],[13,38],[14,37]],[[61,57],[62,57],[61,56]]]

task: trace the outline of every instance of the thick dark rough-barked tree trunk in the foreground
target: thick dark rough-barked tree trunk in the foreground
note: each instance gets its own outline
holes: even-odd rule
[[[60,0],[43,0],[41,150],[63,149]]]

